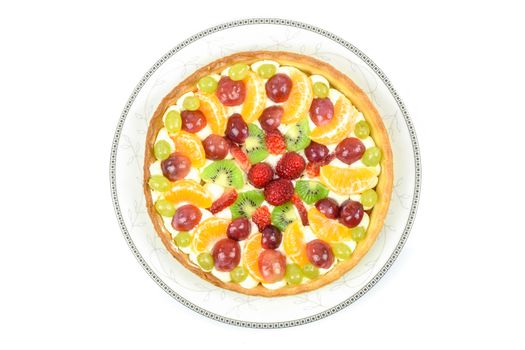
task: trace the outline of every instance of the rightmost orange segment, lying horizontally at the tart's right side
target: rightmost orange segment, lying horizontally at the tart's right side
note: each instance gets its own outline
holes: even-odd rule
[[[342,195],[361,193],[377,185],[378,172],[375,167],[339,168],[322,166],[319,178],[331,191]]]

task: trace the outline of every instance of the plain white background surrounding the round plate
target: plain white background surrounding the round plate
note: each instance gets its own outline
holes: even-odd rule
[[[0,5],[0,348],[525,346],[525,11],[301,3]],[[109,194],[113,133],[142,75],[195,32],[255,16],[369,55],[409,108],[423,161],[417,220],[388,274],[346,310],[281,330],[220,324],[165,294]]]

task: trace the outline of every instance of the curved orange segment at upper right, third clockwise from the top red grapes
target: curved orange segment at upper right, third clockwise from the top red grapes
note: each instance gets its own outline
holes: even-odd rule
[[[345,96],[340,96],[335,102],[332,120],[326,125],[314,128],[310,138],[323,145],[339,143],[352,132],[357,114],[357,109],[352,103]]]

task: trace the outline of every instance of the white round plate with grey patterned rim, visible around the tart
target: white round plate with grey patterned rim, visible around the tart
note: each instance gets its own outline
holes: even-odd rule
[[[161,99],[207,63],[238,51],[294,51],[332,64],[371,98],[390,135],[394,189],[383,231],[345,276],[313,292],[262,298],[218,288],[186,270],[154,231],[142,192],[148,122]],[[334,34],[294,21],[247,19],[219,25],[177,45],[140,80],[118,122],[111,150],[111,194],[126,241],[146,272],[177,301],[225,323],[257,328],[289,327],[337,312],[360,298],[386,273],[414,221],[420,188],[416,135],[407,111],[384,73],[361,51]]]

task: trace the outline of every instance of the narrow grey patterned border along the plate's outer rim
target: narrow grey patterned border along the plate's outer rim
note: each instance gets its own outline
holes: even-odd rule
[[[116,158],[117,158],[117,149],[118,149],[118,143],[120,139],[120,135],[122,132],[122,127],[124,125],[124,122],[126,120],[126,117],[128,115],[129,109],[131,108],[131,105],[135,101],[135,98],[137,97],[139,91],[142,89],[146,81],[151,77],[151,75],[164,63],[166,60],[168,60],[171,56],[173,56],[175,53],[177,53],[182,48],[186,47],[187,45],[193,43],[196,40],[199,40],[207,35],[210,35],[212,33],[216,33],[228,28],[232,27],[238,27],[238,26],[244,26],[244,25],[252,25],[252,24],[275,24],[275,25],[284,25],[284,26],[290,26],[290,27],[296,27],[301,29],[306,29],[311,32],[321,34],[337,43],[345,47],[346,49],[350,50],[354,54],[356,54],[358,57],[360,57],[385,83],[385,85],[388,87],[388,90],[396,100],[399,108],[401,109],[401,112],[403,114],[403,117],[405,119],[405,122],[408,126],[408,130],[410,133],[410,138],[412,141],[412,147],[414,152],[414,161],[415,161],[415,187],[414,187],[414,197],[412,200],[412,205],[410,209],[410,215],[408,218],[408,221],[406,223],[405,229],[403,231],[403,235],[401,236],[396,248],[394,249],[394,252],[386,262],[386,264],[381,268],[381,270],[370,280],[366,286],[361,288],[358,292],[356,292],[354,295],[352,295],[350,298],[346,299],[345,301],[339,303],[338,305],[325,310],[323,312],[320,312],[318,314],[308,316],[301,319],[291,320],[291,321],[285,321],[285,322],[246,322],[241,320],[236,320],[228,317],[224,317],[218,314],[215,314],[213,312],[210,312],[208,310],[205,310],[198,305],[195,305],[188,300],[184,299],[180,295],[178,295],[173,289],[168,287],[162,279],[157,276],[157,274],[152,270],[152,268],[147,264],[147,262],[144,260],[140,252],[138,251],[137,247],[135,246],[135,243],[131,239],[131,236],[129,235],[128,229],[124,223],[124,218],[122,216],[120,205],[118,201],[117,196],[117,186],[116,186],[116,176],[115,176],[115,165],[116,165]],[[111,198],[113,200],[113,206],[115,209],[115,214],[117,216],[118,223],[120,225],[120,229],[122,230],[122,233],[124,235],[124,238],[126,239],[126,242],[128,243],[129,247],[131,248],[131,251],[139,261],[139,263],[142,265],[144,270],[150,275],[150,277],[157,282],[157,284],[169,295],[171,295],[175,300],[183,304],[184,306],[190,308],[193,311],[198,312],[201,315],[204,315],[206,317],[209,317],[213,320],[220,321],[223,323],[235,325],[235,326],[242,326],[242,327],[250,327],[250,328],[286,328],[286,327],[293,327],[293,326],[299,326],[306,323],[314,322],[317,320],[320,320],[322,318],[325,318],[327,316],[330,316],[337,311],[341,311],[348,305],[355,302],[357,299],[361,298],[366,292],[368,292],[373,286],[377,284],[377,282],[385,275],[385,273],[388,271],[388,269],[392,266],[396,258],[398,257],[399,253],[401,252],[401,249],[405,245],[405,242],[408,238],[408,235],[410,233],[410,230],[412,228],[412,225],[414,224],[414,219],[417,212],[417,206],[419,203],[419,195],[421,191],[421,157],[419,152],[419,145],[417,142],[416,133],[414,130],[414,126],[412,124],[412,121],[410,120],[410,117],[408,115],[408,111],[403,103],[401,101],[401,98],[398,96],[397,92],[394,90],[392,83],[388,78],[386,77],[385,73],[363,52],[361,52],[358,48],[356,48],[354,45],[350,44],[348,41],[338,37],[335,34],[332,34],[330,32],[327,32],[324,29],[317,28],[315,26],[287,20],[287,19],[278,19],[278,18],[250,18],[250,19],[242,19],[237,21],[232,21],[224,24],[217,25],[212,28],[208,28],[204,31],[201,31],[192,37],[184,40],[183,42],[179,43],[177,46],[172,48],[168,53],[166,53],[164,56],[162,56],[154,65],[151,67],[148,72],[142,77],[140,82],[137,84],[135,89],[133,90],[133,93],[131,94],[130,98],[128,99],[124,110],[122,111],[122,114],[120,115],[120,119],[117,124],[117,130],[115,131],[115,136],[113,138],[113,144],[111,146],[111,157],[110,157],[110,166],[109,166],[109,178],[110,178],[110,187],[111,187]]]

